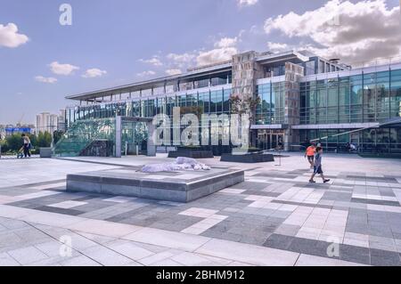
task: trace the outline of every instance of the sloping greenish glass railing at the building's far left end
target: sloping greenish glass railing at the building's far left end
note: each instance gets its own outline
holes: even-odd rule
[[[56,157],[78,157],[87,147],[97,141],[107,141],[114,145],[115,118],[78,120],[73,123],[59,142],[53,147]]]

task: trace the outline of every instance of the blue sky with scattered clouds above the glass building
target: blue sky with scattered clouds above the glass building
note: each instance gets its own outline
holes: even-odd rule
[[[319,21],[301,28],[303,34],[295,26],[291,30],[281,26],[282,19],[304,25],[327,14],[330,20],[332,9],[323,9],[327,1],[240,1],[0,0],[0,124],[16,123],[22,115],[23,122],[33,123],[37,113],[57,112],[71,104],[64,100],[68,94],[183,72],[188,66],[224,60],[239,51],[280,51],[303,45],[323,55],[341,52],[340,47],[333,50],[324,45],[322,30],[315,28],[325,27]],[[63,3],[72,6],[71,26],[59,23]],[[383,27],[381,21],[371,24],[379,33],[401,27],[395,16],[401,19],[398,0],[374,0],[377,7],[362,1],[329,3],[340,7],[339,13],[344,13],[340,20],[345,19],[337,29],[331,28],[332,37],[342,37],[340,29],[352,25],[347,17],[355,17],[353,11],[364,11],[363,19],[381,12],[383,22],[393,26]],[[399,53],[397,47],[377,48],[379,37],[366,35],[364,27],[356,32],[361,38],[341,47],[348,60],[364,60],[358,54]],[[366,40],[371,41],[371,49],[365,47]]]

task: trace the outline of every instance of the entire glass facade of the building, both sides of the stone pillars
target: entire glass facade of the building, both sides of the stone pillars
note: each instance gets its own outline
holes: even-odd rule
[[[319,73],[319,70],[339,71],[339,68],[325,61],[311,60],[305,63],[306,75]],[[275,69],[265,71],[285,74],[284,66],[280,65]],[[372,69],[371,69],[372,70]],[[351,71],[350,71],[351,72]],[[352,71],[356,73],[356,70]],[[274,73],[274,74],[275,74]],[[372,128],[356,133],[344,134],[356,130],[338,124],[362,124],[385,122],[390,118],[401,117],[401,69],[387,69],[377,72],[361,69],[359,74],[344,76],[343,72],[328,75],[324,79],[312,79],[299,84],[299,90],[286,90],[286,83],[274,82],[256,85],[256,93],[260,103],[256,110],[256,124],[262,126],[258,131],[257,145],[266,149],[274,145],[277,139],[290,141],[285,135],[290,134],[296,141],[288,143],[307,143],[310,140],[329,137],[322,141],[327,150],[345,149],[347,143],[352,142],[364,152],[401,152],[401,131],[398,128]],[[266,73],[268,77],[268,74]],[[316,77],[321,77],[316,75]],[[284,80],[284,78],[282,78]],[[227,114],[230,115],[230,97],[232,94],[231,75],[222,77],[199,77],[192,82],[193,89],[186,89],[183,92],[158,94],[151,93],[142,97],[135,97],[127,101],[109,101],[96,104],[87,104],[68,108],[66,111],[66,126],[73,127],[76,122],[89,121],[92,119],[107,119],[122,117],[153,118],[158,114],[166,114],[172,118],[173,109],[181,108],[181,115],[192,113],[201,117],[201,114]],[[184,83],[183,83],[184,84]],[[223,85],[225,84],[225,85]],[[218,85],[218,86],[214,86]],[[290,87],[290,86],[288,86]],[[201,88],[201,89],[197,89]],[[297,87],[298,88],[298,87]],[[173,91],[171,91],[173,92]],[[299,96],[298,93],[299,92]],[[291,94],[291,97],[290,97]],[[285,96],[289,95],[286,100]],[[130,95],[129,95],[130,97]],[[292,103],[291,100],[298,100]],[[299,104],[298,104],[299,102]],[[286,103],[289,105],[286,106]],[[291,111],[291,106],[299,105],[298,111]],[[287,108],[287,109],[286,109]],[[287,115],[286,112],[291,114]],[[291,117],[291,119],[290,119]],[[295,118],[294,118],[295,117]],[[271,127],[264,125],[288,125],[298,121],[299,125],[307,126],[307,130],[275,129],[266,131]],[[296,122],[298,124],[298,122]],[[323,126],[317,129],[316,125]],[[314,129],[314,126],[315,129]],[[184,129],[186,126],[181,126]],[[275,127],[275,126],[273,126]],[[349,129],[344,129],[349,127]],[[359,126],[358,126],[359,127]],[[302,128],[302,127],[301,127]],[[361,127],[362,128],[362,127]],[[143,133],[143,125],[127,126],[123,129],[122,141],[130,144],[140,144],[139,140]],[[287,131],[288,130],[288,131]],[[209,131],[216,131],[209,128]],[[341,135],[339,135],[341,134]],[[218,136],[218,134],[217,134]],[[284,137],[285,136],[285,137]],[[172,137],[171,137],[172,138]],[[201,139],[201,137],[200,137]],[[221,142],[221,141],[220,141]]]

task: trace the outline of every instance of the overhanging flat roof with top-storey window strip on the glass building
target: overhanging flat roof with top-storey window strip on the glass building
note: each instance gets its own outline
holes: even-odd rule
[[[292,62],[305,67],[305,75],[319,74],[346,69],[344,65],[315,55],[307,56],[299,52],[284,53],[241,53],[245,56],[254,56],[261,67],[260,77],[277,77],[284,75],[285,62]],[[320,66],[319,66],[320,64]],[[217,62],[215,64],[188,69],[184,74],[159,77],[155,79],[135,82],[129,85],[119,85],[111,88],[96,90],[87,93],[78,93],[66,96],[66,99],[87,102],[116,101],[133,97],[151,96],[161,93],[174,93],[208,86],[225,85],[232,83],[233,61]],[[146,92],[147,91],[147,92]],[[111,96],[113,96],[111,98]]]

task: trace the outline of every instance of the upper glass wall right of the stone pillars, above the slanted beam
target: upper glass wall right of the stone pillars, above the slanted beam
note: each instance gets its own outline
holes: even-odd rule
[[[400,116],[401,69],[300,85],[300,124],[383,122]]]

